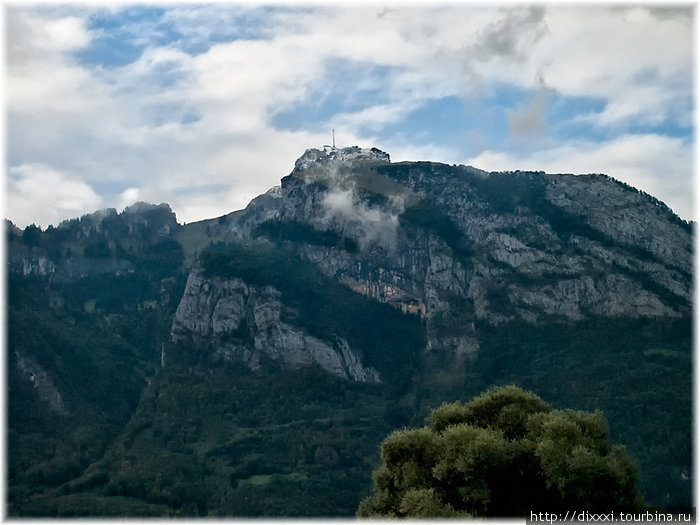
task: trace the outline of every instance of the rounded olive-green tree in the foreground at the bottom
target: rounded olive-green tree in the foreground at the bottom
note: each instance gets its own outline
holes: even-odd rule
[[[515,386],[443,404],[381,444],[359,517],[523,517],[638,509],[636,466],[602,412],[553,410]]]

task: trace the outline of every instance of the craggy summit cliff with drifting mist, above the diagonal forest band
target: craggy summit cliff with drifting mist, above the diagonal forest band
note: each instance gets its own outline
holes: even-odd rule
[[[296,248],[355,292],[430,319],[463,296],[469,270],[434,232],[407,229],[400,218],[420,195],[376,170],[389,155],[376,149],[307,150],[282,180],[277,219],[340,232],[356,249],[300,243]],[[449,343],[429,330],[429,347],[478,348],[470,327]],[[431,336],[432,334],[432,336]],[[469,349],[466,351],[465,349]]]

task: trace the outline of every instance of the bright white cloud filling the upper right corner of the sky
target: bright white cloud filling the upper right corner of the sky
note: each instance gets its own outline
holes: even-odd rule
[[[530,61],[559,93],[606,101],[601,126],[676,118],[670,102],[693,89],[692,10],[680,12],[662,19],[653,8],[587,6],[582,23],[579,7],[548,9],[551,36]]]

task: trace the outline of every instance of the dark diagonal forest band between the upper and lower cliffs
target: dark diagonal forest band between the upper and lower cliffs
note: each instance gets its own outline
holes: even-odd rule
[[[258,286],[274,286],[296,315],[284,320],[309,334],[345,339],[363,354],[363,363],[390,382],[405,385],[425,345],[424,326],[416,315],[352,292],[312,265],[281,249],[236,248],[207,251],[208,275],[239,277]]]

